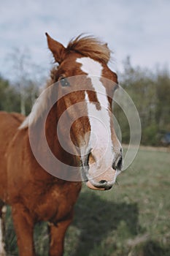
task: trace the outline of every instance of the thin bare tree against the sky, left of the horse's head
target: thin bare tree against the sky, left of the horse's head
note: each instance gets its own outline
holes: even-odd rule
[[[20,113],[25,116],[39,94],[42,69],[31,61],[31,54],[26,48],[14,48],[8,59],[12,64],[15,88],[20,95]]]

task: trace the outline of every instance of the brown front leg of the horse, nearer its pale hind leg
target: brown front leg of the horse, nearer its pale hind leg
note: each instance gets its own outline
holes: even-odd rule
[[[34,221],[28,209],[20,203],[12,206],[12,219],[20,256],[34,256]]]

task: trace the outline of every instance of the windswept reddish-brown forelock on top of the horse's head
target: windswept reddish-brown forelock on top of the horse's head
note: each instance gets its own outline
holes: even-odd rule
[[[91,36],[82,36],[80,34],[78,37],[72,39],[66,48],[67,51],[74,51],[82,54],[83,56],[90,57],[91,59],[97,59],[100,61],[107,62],[110,59],[111,51],[100,40]]]

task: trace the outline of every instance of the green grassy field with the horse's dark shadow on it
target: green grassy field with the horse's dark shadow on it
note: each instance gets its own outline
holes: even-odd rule
[[[66,233],[64,256],[169,256],[169,152],[140,149],[131,167],[110,191],[83,186],[74,222]],[[37,255],[48,255],[47,225],[36,225]],[[18,255],[7,212],[8,255]]]

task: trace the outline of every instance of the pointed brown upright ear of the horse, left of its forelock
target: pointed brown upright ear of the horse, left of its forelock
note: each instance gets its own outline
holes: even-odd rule
[[[49,34],[45,34],[47,37],[48,48],[53,53],[55,61],[61,64],[61,61],[63,61],[64,58],[64,53],[66,52],[66,48],[60,42],[57,42],[51,38]]]

